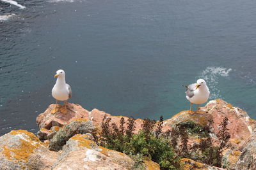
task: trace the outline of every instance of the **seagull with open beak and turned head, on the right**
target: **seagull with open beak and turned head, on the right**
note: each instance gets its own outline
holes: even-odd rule
[[[199,105],[207,102],[210,96],[209,89],[203,79],[198,79],[196,83],[193,83],[189,86],[182,85],[186,87],[186,97],[190,101],[190,109],[192,108],[192,104],[197,104],[197,110],[199,109]],[[197,111],[196,110],[196,111]]]

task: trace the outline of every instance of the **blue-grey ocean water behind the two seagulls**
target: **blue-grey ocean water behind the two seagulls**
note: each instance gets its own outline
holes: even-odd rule
[[[256,1],[0,0],[0,135],[38,131],[64,69],[71,103],[170,118],[204,78],[256,118]],[[204,104],[202,104],[204,106]],[[194,108],[195,109],[195,108]]]

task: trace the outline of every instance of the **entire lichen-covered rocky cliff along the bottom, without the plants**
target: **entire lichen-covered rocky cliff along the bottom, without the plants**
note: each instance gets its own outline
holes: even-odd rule
[[[98,146],[92,131],[101,129],[102,118],[120,125],[120,118],[94,109],[87,111],[78,104],[68,104],[67,114],[51,113],[51,104],[36,118],[40,128],[37,136],[31,132],[12,131],[0,137],[1,169],[138,169],[136,161],[121,152]],[[180,123],[193,122],[209,127],[213,143],[223,118],[228,118],[230,146],[224,150],[221,165],[224,169],[256,169],[256,121],[247,113],[221,99],[209,101],[196,113],[181,111],[163,121],[163,131],[170,131]],[[128,120],[124,117],[125,121]],[[135,120],[135,132],[141,130],[143,120]],[[125,124],[126,125],[126,124]],[[198,137],[189,134],[189,145],[195,146]],[[221,169],[191,159],[181,159],[181,169]],[[160,169],[152,160],[141,160],[143,169]],[[140,168],[141,168],[140,167]]]

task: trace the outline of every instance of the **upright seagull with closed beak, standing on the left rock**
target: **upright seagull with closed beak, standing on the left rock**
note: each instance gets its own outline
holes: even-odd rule
[[[55,108],[51,111],[51,113],[56,113],[59,111],[58,101],[64,101],[64,107],[60,109],[61,113],[67,113],[67,100],[72,97],[72,90],[70,85],[68,85],[65,81],[65,72],[62,69],[56,71],[54,78],[57,77],[57,81],[52,88],[52,97],[56,99]]]

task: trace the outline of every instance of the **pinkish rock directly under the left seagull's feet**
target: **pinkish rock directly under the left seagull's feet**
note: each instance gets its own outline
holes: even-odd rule
[[[40,129],[51,129],[52,126],[62,127],[77,118],[88,118],[89,112],[79,104],[68,103],[68,111],[65,114],[60,113],[60,111],[52,114],[51,110],[54,107],[55,104],[51,104],[44,113],[41,113],[36,118],[36,124]]]

